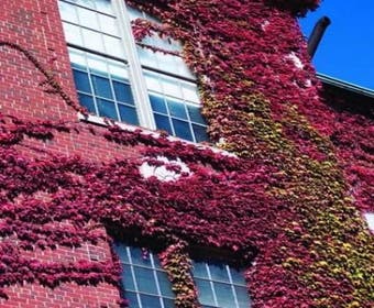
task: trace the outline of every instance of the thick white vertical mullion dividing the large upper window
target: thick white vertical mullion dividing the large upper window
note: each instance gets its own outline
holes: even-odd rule
[[[130,16],[123,0],[113,0],[113,9],[119,22],[119,31],[122,37],[124,52],[129,61],[130,80],[133,89],[134,100],[138,109],[139,122],[142,127],[156,129],[151,102],[142,73],[142,66],[136,53],[136,45],[132,35]]]

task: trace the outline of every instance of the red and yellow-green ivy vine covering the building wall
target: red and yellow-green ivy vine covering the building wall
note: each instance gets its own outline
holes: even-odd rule
[[[211,140],[237,156],[163,133],[2,114],[0,296],[24,282],[118,286],[116,260],[61,264],[25,256],[110,241],[100,230],[116,226],[162,243],[177,307],[199,306],[187,254],[194,245],[229,252],[248,268],[254,307],[372,307],[374,245],[361,211],[374,210],[373,120],[336,112],[320,99],[295,20],[318,1],[127,2],[163,21],[135,21],[139,42],[157,32],[184,43]],[[2,45],[31,61],[72,112],[79,108],[36,58]],[[55,139],[79,142],[87,134],[136,155],[98,163],[19,151],[31,140],[47,148]],[[144,162],[179,177],[144,178]]]

